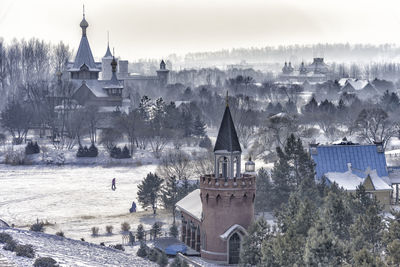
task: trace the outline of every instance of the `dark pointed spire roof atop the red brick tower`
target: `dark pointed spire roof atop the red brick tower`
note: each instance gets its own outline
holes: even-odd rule
[[[228,152],[242,151],[228,105],[225,108],[221,126],[219,127],[217,141],[215,142],[214,151],[217,150]]]

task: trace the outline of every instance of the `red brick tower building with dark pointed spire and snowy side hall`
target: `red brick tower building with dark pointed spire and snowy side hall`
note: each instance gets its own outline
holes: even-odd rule
[[[241,154],[227,105],[214,147],[214,173],[200,177],[200,189],[177,203],[182,242],[209,261],[237,264],[254,219],[254,164],[246,163],[246,172],[241,173]]]

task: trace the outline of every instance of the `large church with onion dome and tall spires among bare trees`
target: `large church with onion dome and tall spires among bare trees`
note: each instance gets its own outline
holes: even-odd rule
[[[161,89],[168,84],[169,70],[163,60],[154,76],[132,75],[128,71],[129,62],[115,58],[108,44],[101,62],[96,62],[87,36],[89,23],[85,12],[79,26],[82,28],[81,41],[65,75],[74,86],[72,99],[76,105],[95,106],[99,112],[129,112],[133,102],[138,101],[132,99],[135,92],[143,88]]]

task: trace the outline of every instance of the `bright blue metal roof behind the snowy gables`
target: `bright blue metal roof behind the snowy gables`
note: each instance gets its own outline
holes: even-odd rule
[[[328,172],[348,171],[348,163],[352,172],[361,178],[365,178],[368,167],[376,170],[379,177],[388,176],[385,153],[378,153],[376,145],[332,145],[316,149],[317,153],[311,152],[311,157],[316,164],[317,179]]]

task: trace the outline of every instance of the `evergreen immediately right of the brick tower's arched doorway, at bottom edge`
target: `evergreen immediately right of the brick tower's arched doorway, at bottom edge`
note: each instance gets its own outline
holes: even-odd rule
[[[242,249],[240,250],[240,262],[245,266],[261,264],[261,247],[265,240],[271,239],[271,228],[264,219],[253,222],[248,235],[244,238]]]

